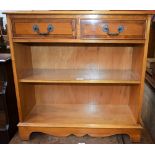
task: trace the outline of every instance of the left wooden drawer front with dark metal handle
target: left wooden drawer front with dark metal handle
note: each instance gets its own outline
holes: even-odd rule
[[[14,19],[13,37],[75,38],[75,19]]]

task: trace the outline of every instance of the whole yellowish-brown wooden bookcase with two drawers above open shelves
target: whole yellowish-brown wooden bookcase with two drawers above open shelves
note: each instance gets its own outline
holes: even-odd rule
[[[139,141],[151,12],[6,12],[19,133]]]

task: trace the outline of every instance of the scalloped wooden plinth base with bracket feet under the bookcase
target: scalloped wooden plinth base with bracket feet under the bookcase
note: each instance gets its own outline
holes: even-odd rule
[[[142,127],[140,125],[135,125],[135,126],[120,126],[116,128],[114,127],[104,127],[104,128],[68,128],[68,127],[46,127],[46,126],[39,126],[37,125],[32,125],[27,123],[19,123],[18,125],[19,128],[19,134],[20,137],[23,140],[29,140],[30,135],[33,131],[40,132],[42,131],[43,133],[53,135],[53,136],[69,136],[70,133],[77,137],[82,137],[85,135],[89,135],[91,137],[105,137],[105,136],[111,136],[111,135],[116,135],[116,134],[127,134],[130,136],[132,142],[139,142],[141,140],[141,131]]]

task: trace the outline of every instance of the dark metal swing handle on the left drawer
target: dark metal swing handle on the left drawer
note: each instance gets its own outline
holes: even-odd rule
[[[47,32],[40,32],[39,30],[39,26],[38,25],[33,25],[33,31],[37,32],[37,34],[39,35],[48,35],[50,32],[52,32],[54,30],[54,26],[49,24],[47,26]]]

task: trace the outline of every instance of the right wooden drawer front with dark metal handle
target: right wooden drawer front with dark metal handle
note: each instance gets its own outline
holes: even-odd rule
[[[81,19],[83,39],[145,39],[145,20]]]

